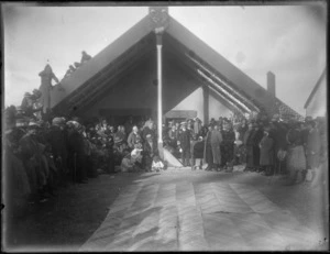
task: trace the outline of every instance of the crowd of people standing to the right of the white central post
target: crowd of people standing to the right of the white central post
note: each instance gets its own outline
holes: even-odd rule
[[[284,121],[278,114],[265,118],[219,118],[210,124],[190,119],[169,122],[165,146],[193,169],[244,172],[266,176],[287,174],[293,184],[320,178],[320,163],[327,159],[326,122],[322,118]]]

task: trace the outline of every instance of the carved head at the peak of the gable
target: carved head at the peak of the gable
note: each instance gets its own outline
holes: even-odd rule
[[[168,7],[150,7],[148,15],[156,34],[163,34],[169,23]]]

